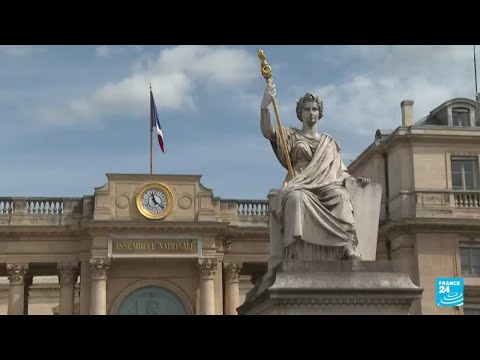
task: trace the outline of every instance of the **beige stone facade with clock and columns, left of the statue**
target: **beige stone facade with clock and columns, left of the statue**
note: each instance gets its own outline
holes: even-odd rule
[[[107,178],[78,199],[0,199],[0,314],[236,314],[265,271],[267,201],[194,175]],[[140,211],[146,185],[171,194],[162,219]]]

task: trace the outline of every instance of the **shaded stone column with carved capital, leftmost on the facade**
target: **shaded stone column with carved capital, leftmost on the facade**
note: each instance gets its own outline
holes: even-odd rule
[[[8,315],[23,315],[25,313],[25,277],[28,264],[7,264],[8,280]]]

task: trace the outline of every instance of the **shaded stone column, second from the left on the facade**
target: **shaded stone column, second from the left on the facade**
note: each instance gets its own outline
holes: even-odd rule
[[[73,315],[75,308],[75,283],[78,278],[77,263],[57,264],[58,279],[60,282],[59,315]]]

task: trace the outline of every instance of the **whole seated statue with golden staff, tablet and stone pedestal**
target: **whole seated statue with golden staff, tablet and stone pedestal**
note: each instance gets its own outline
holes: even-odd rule
[[[252,277],[255,286],[238,313],[407,313],[422,290],[408,275],[398,274],[390,261],[375,260],[380,184],[368,185],[370,180],[351,176],[335,139],[317,132],[324,112],[318,96],[307,93],[298,100],[301,128],[282,126],[272,69],[261,49],[258,56],[267,80],[260,126],[287,176],[280,190],[269,193],[267,272]]]

